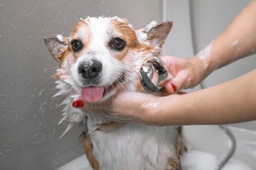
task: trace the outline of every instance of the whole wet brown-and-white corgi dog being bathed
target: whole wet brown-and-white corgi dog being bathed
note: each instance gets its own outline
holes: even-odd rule
[[[180,156],[186,151],[181,126],[121,123],[104,111],[93,113],[82,107],[83,102],[107,101],[121,91],[144,92],[142,64],[160,54],[171,27],[170,21],[152,21],[136,30],[125,18],[87,17],[75,24],[69,37],[44,38],[59,62],[53,77],[59,88],[55,96],[66,96],[61,120],[68,122],[64,134],[82,122],[83,146],[92,169],[178,169]],[[75,102],[81,107],[73,107],[77,99],[82,99]],[[115,128],[111,128],[113,124]],[[101,129],[101,125],[107,128]]]

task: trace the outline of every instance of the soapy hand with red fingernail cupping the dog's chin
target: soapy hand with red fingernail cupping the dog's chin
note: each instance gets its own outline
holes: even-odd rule
[[[147,109],[145,107],[154,103],[154,101],[158,101],[158,98],[160,97],[151,93],[120,92],[99,103],[84,102],[81,97],[78,97],[73,100],[73,106],[86,112],[98,114],[111,121],[150,125],[152,114],[151,112],[146,113]]]

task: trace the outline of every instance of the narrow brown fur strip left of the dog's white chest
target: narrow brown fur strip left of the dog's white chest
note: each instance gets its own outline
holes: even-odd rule
[[[93,155],[93,145],[91,141],[91,137],[88,133],[83,135],[83,148],[85,149],[85,153],[87,159],[93,170],[99,170],[98,160]]]

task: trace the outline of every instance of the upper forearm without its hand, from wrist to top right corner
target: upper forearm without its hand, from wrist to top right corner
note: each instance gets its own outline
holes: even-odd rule
[[[217,37],[210,48],[197,54],[207,74],[256,52],[256,0],[249,3]],[[208,47],[209,47],[208,46]],[[208,50],[208,51],[207,51]]]

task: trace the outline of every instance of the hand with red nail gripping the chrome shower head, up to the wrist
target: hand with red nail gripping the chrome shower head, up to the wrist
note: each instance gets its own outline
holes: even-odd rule
[[[181,89],[192,88],[210,73],[206,64],[197,56],[190,58],[178,58],[170,55],[160,57],[168,70],[168,77],[160,82],[170,94],[177,93]]]

